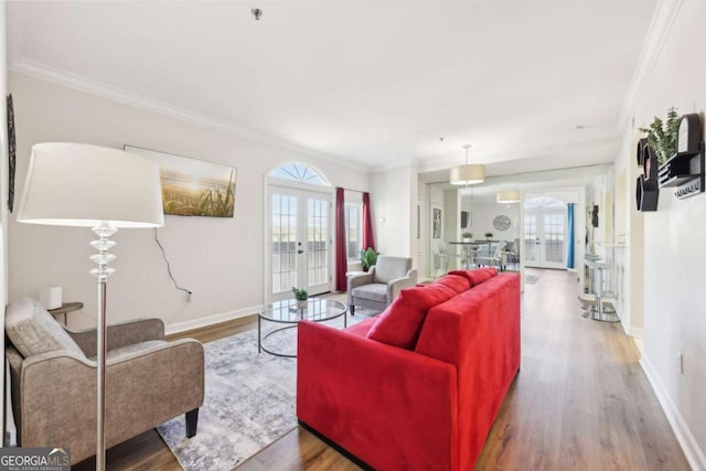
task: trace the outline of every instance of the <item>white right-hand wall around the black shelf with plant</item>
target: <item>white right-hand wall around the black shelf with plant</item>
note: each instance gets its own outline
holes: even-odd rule
[[[663,2],[676,11],[654,67],[644,77],[634,109],[642,127],[664,116],[706,110],[706,62],[702,58],[706,2]],[[634,129],[625,131],[633,142]],[[620,160],[632,165],[635,150],[623,146]],[[644,217],[644,354],[643,367],[675,428],[694,469],[706,469],[706,194],[677,200],[674,189],[660,191],[659,211]],[[634,193],[633,193],[634,197]],[[639,239],[631,227],[632,240]],[[684,373],[677,367],[683,354]]]

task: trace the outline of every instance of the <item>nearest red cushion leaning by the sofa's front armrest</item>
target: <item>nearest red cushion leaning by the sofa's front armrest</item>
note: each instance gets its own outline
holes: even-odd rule
[[[377,317],[368,339],[411,350],[417,343],[427,312],[456,296],[443,285],[403,289],[392,304]]]

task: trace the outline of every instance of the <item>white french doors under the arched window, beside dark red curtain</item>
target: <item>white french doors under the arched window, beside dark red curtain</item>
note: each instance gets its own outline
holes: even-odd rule
[[[331,193],[269,186],[268,298],[331,290]]]

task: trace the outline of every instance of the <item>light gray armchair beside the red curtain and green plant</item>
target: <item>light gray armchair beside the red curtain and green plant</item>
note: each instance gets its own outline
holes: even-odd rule
[[[411,258],[381,255],[365,274],[349,277],[349,309],[355,315],[355,307],[383,311],[405,288],[417,283],[417,270]]]

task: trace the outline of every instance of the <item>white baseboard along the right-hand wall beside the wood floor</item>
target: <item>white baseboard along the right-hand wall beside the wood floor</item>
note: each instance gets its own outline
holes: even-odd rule
[[[704,456],[703,450],[698,447],[698,443],[684,421],[684,418],[670,398],[670,395],[660,381],[660,376],[654,370],[652,362],[643,355],[640,360],[640,366],[642,366],[642,371],[648,376],[648,381],[652,385],[652,389],[654,389],[654,394],[657,396],[657,400],[660,402],[664,414],[666,414],[666,418],[672,426],[672,430],[674,430],[674,435],[676,435],[676,441],[678,441],[682,447],[682,451],[684,451],[689,465],[695,471],[706,470],[706,457]]]

